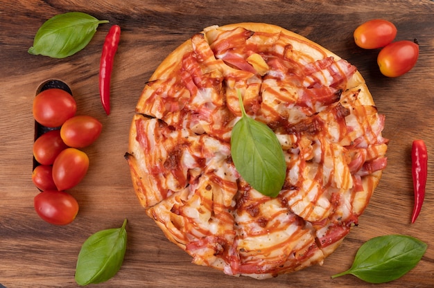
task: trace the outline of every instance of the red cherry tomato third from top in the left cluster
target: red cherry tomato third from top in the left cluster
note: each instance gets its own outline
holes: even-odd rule
[[[51,165],[54,163],[55,157],[67,147],[60,136],[60,130],[49,131],[42,134],[33,143],[33,156],[38,163]]]

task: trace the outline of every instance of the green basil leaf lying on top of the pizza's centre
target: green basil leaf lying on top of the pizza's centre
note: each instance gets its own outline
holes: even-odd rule
[[[284,152],[270,127],[247,116],[241,93],[237,92],[243,116],[232,129],[232,160],[250,186],[263,195],[276,197],[286,178]]]

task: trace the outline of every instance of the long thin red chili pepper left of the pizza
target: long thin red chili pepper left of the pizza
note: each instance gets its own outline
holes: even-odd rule
[[[101,103],[107,115],[110,114],[110,80],[112,79],[112,69],[114,54],[118,48],[119,39],[121,38],[121,27],[113,25],[107,36],[101,53],[101,62],[99,66],[99,93]]]

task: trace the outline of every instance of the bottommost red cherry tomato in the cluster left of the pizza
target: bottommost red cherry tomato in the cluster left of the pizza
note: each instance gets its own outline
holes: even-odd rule
[[[69,193],[58,190],[40,192],[34,199],[34,205],[37,215],[55,225],[73,222],[78,213],[77,200]]]

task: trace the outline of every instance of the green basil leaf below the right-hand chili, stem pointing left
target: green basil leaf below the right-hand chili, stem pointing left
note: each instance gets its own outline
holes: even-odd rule
[[[365,242],[356,253],[350,269],[331,276],[352,274],[370,283],[396,280],[421,260],[427,245],[406,235],[385,235]]]

